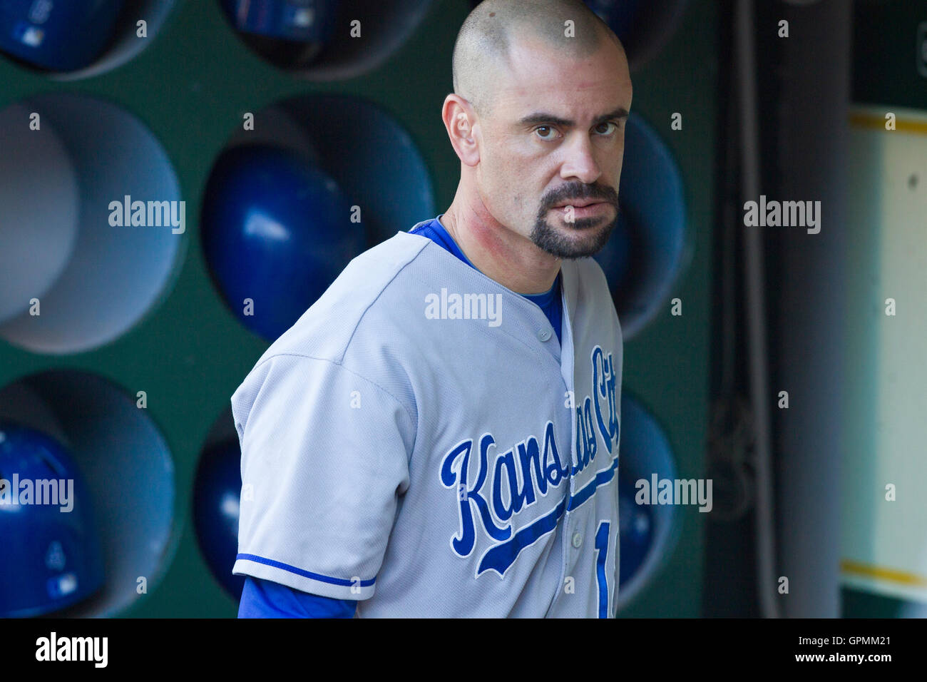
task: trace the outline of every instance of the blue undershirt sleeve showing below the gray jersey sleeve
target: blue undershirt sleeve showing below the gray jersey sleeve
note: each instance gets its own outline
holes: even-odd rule
[[[239,618],[352,618],[355,611],[354,599],[319,597],[250,576],[238,605]]]

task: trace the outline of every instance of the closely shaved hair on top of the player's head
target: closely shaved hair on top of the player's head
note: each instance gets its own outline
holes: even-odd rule
[[[570,23],[567,23],[570,22]],[[495,86],[514,41],[528,40],[556,54],[587,58],[605,41],[624,48],[608,25],[581,0],[483,0],[464,20],[454,43],[454,92],[479,116],[492,110]]]

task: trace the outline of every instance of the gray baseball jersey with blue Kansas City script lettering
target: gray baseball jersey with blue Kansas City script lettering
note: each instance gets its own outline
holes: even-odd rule
[[[540,307],[431,239],[365,251],[232,396],[234,573],[359,617],[613,617],[621,328],[602,268]]]

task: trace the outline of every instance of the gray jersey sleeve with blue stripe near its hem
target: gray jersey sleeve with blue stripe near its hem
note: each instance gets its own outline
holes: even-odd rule
[[[232,409],[242,454],[233,573],[372,597],[409,485],[410,412],[342,365],[291,354],[254,367]]]

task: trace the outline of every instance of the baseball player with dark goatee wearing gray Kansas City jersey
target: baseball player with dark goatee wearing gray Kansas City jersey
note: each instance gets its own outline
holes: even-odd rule
[[[485,0],[453,85],[450,208],[351,261],[232,396],[239,617],[615,615],[622,340],[590,256],[628,62],[578,0]]]

